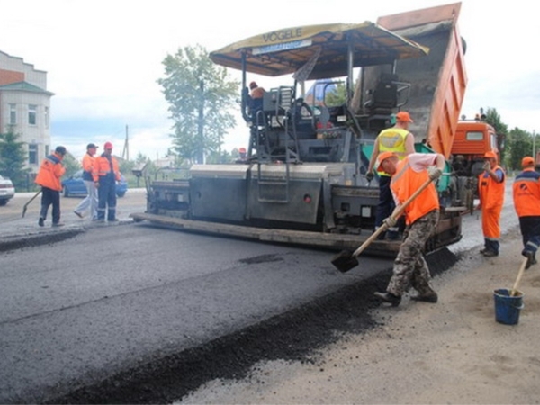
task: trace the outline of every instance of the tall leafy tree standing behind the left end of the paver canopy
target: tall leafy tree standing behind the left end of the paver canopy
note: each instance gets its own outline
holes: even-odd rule
[[[175,122],[171,135],[175,152],[188,162],[203,163],[236,124],[229,109],[236,106],[239,83],[229,80],[227,69],[215,65],[200,45],[178,49],[166,56],[163,65],[165,78],[157,83]]]

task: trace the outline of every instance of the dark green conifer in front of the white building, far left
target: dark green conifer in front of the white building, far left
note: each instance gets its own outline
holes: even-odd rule
[[[9,177],[15,188],[27,185],[30,169],[24,168],[25,163],[24,143],[19,141],[19,134],[13,128],[0,133],[0,175]]]

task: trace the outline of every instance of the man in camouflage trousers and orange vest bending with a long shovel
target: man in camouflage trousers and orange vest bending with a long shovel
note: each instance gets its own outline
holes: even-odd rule
[[[378,157],[384,172],[392,175],[391,190],[398,211],[428,179],[437,180],[445,168],[445,157],[438,153],[413,153],[400,161],[397,154],[383,152]],[[415,200],[405,208],[406,228],[398,256],[394,260],[393,274],[386,292],[374,293],[384,302],[398,306],[401,296],[412,286],[418,295],[411,300],[437,302],[437,293],[429,284],[431,275],[424,258],[426,242],[437,228],[440,204],[437,188],[431,183]],[[395,226],[394,215],[383,221],[387,226]]]

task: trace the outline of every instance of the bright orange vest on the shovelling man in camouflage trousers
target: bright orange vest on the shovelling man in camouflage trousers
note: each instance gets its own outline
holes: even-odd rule
[[[410,167],[410,158],[414,158],[414,154],[398,163],[396,174],[392,176],[390,184],[392,193],[400,204],[407,201],[429,179],[428,170],[416,172]],[[427,213],[438,210],[439,207],[437,188],[431,183],[405,208],[405,223],[410,225]]]

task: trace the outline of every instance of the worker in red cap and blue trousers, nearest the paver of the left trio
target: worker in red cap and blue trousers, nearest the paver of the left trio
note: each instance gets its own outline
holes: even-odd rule
[[[112,143],[105,142],[103,153],[94,160],[92,175],[97,187],[97,220],[116,221],[116,182],[120,181],[120,170],[116,157],[112,156]]]

